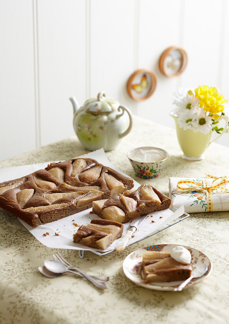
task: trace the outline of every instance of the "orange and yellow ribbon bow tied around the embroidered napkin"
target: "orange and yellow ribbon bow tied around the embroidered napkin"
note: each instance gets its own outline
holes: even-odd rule
[[[212,184],[208,184],[208,179],[202,179],[203,183],[200,181],[194,181],[194,180],[179,180],[177,182],[177,189],[179,190],[185,190],[185,191],[192,191],[193,189],[198,189],[198,190],[206,190],[206,198],[207,198],[207,212],[212,212],[212,191],[216,189],[221,189],[223,191],[229,191],[227,188],[223,187],[225,183],[229,183],[229,177],[224,176],[224,177],[219,177],[216,178],[210,174],[207,174],[208,177],[210,178],[215,178],[212,181]],[[187,186],[181,186],[181,184],[194,184],[194,187],[187,187]]]

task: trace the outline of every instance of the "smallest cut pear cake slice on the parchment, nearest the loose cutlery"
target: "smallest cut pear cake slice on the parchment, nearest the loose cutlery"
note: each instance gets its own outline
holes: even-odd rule
[[[90,224],[81,225],[73,236],[73,242],[91,248],[105,250],[123,233],[123,225],[107,219],[94,218]]]

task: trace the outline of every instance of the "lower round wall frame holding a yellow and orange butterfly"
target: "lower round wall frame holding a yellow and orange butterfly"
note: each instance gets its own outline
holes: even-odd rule
[[[143,101],[152,96],[156,87],[156,75],[149,70],[136,70],[127,81],[127,92],[135,101]]]

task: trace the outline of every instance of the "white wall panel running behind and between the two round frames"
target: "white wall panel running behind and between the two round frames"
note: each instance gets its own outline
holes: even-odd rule
[[[169,46],[180,45],[179,0],[140,1],[139,17],[139,68],[152,70],[157,76],[153,95],[138,103],[138,115],[167,126],[173,124],[172,93],[177,89],[177,78],[161,74],[158,61]]]

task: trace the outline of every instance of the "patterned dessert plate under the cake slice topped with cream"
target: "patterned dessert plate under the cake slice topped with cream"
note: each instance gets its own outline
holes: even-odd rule
[[[125,260],[123,261],[122,264],[122,269],[125,274],[125,276],[130,279],[134,284],[137,284],[139,286],[142,286],[144,288],[148,289],[154,289],[154,290],[162,290],[162,291],[174,291],[174,288],[176,288],[179,284],[182,283],[182,281],[172,281],[172,282],[165,282],[165,283],[146,283],[142,277],[141,274],[141,263],[142,263],[142,252],[146,251],[163,251],[163,252],[168,252],[176,247],[177,244],[157,244],[157,245],[151,245],[147,246],[143,249],[139,249],[136,251],[133,251],[130,253]],[[208,257],[203,254],[202,252],[184,246],[184,248],[188,249],[189,252],[191,253],[192,260],[191,260],[191,266],[192,268],[196,268],[198,265],[201,263],[205,263],[206,266],[208,267],[207,272],[200,278],[195,278],[192,279],[187,286],[184,287],[192,287],[195,284],[199,284],[201,281],[206,279],[209,274],[212,272],[212,264],[211,261],[208,259]]]

